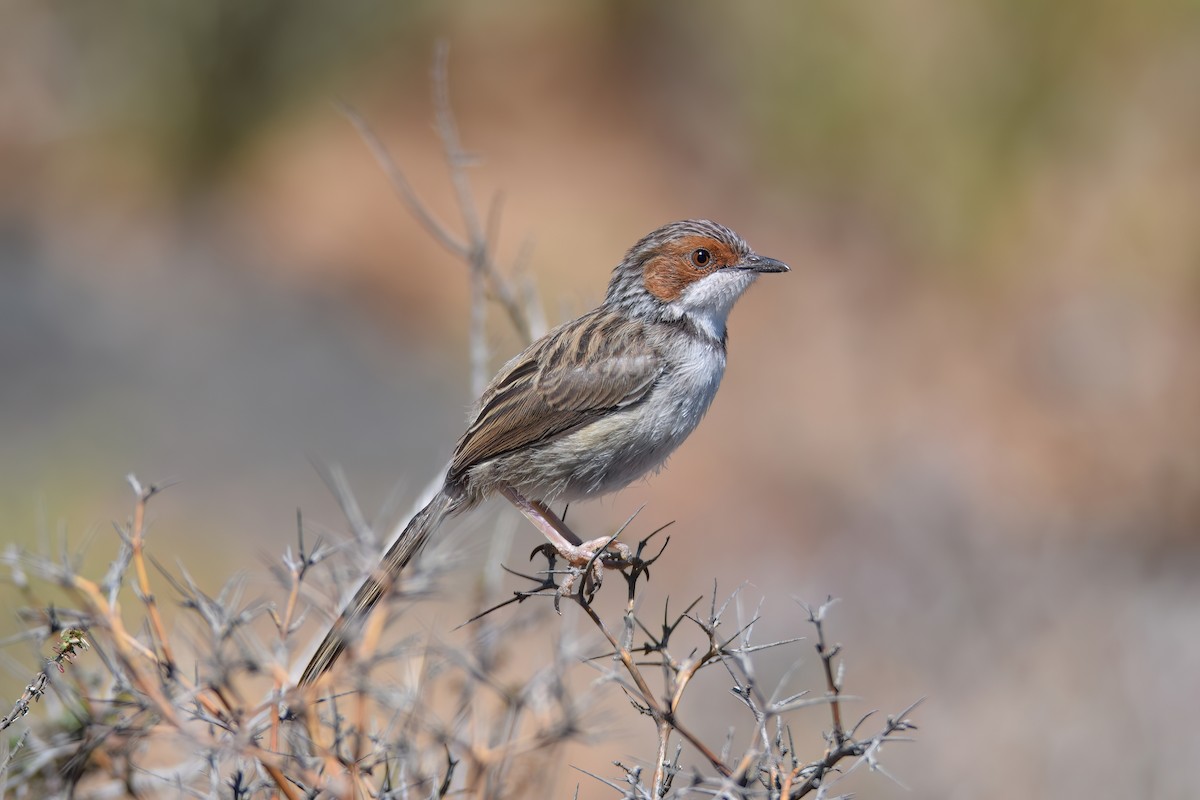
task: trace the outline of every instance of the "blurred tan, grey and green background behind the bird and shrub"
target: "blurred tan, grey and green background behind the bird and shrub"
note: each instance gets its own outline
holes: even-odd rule
[[[102,569],[124,475],[178,480],[152,506],[160,559],[271,597],[298,507],[346,529],[312,461],[368,511],[434,476],[473,401],[466,270],[335,102],[458,225],[430,100],[444,38],[473,186],[504,198],[498,258],[551,324],[674,218],[793,267],[734,309],[725,384],[670,468],[574,518],[677,521],[652,589],[749,582],[764,637],[808,633],[793,597],[841,597],[863,709],[929,698],[918,744],[884,751],[912,792],[856,774],[860,796],[1200,795],[1193,0],[4,17],[5,542],[91,537]],[[490,330],[498,366],[520,342],[498,313]],[[448,533],[464,570],[497,517],[515,512]],[[508,561],[536,543],[518,527]],[[6,697],[31,655],[0,655]],[[720,742],[728,722],[697,727]],[[648,721],[608,728],[571,763],[652,752]],[[560,796],[581,781],[611,796],[568,769]]]

